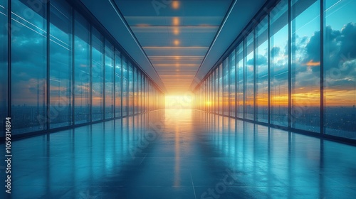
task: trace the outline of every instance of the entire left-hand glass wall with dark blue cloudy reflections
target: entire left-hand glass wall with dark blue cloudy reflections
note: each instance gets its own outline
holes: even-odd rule
[[[155,83],[87,15],[71,1],[0,0],[0,137],[5,117],[18,136],[127,116],[129,65],[130,114],[148,105],[140,103],[143,86],[150,110],[163,107]]]

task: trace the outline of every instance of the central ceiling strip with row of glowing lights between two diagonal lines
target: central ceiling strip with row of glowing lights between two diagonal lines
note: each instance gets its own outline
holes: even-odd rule
[[[231,0],[115,2],[167,91],[174,93],[189,90],[231,6]]]

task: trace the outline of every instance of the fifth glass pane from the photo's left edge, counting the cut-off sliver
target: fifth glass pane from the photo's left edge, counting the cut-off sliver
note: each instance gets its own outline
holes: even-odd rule
[[[103,36],[92,28],[92,121],[103,119]]]

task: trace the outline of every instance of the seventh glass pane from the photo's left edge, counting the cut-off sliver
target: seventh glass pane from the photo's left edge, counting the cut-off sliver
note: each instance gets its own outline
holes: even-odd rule
[[[122,86],[121,64],[122,63],[121,63],[120,51],[115,49],[115,117],[121,116],[121,86]]]

